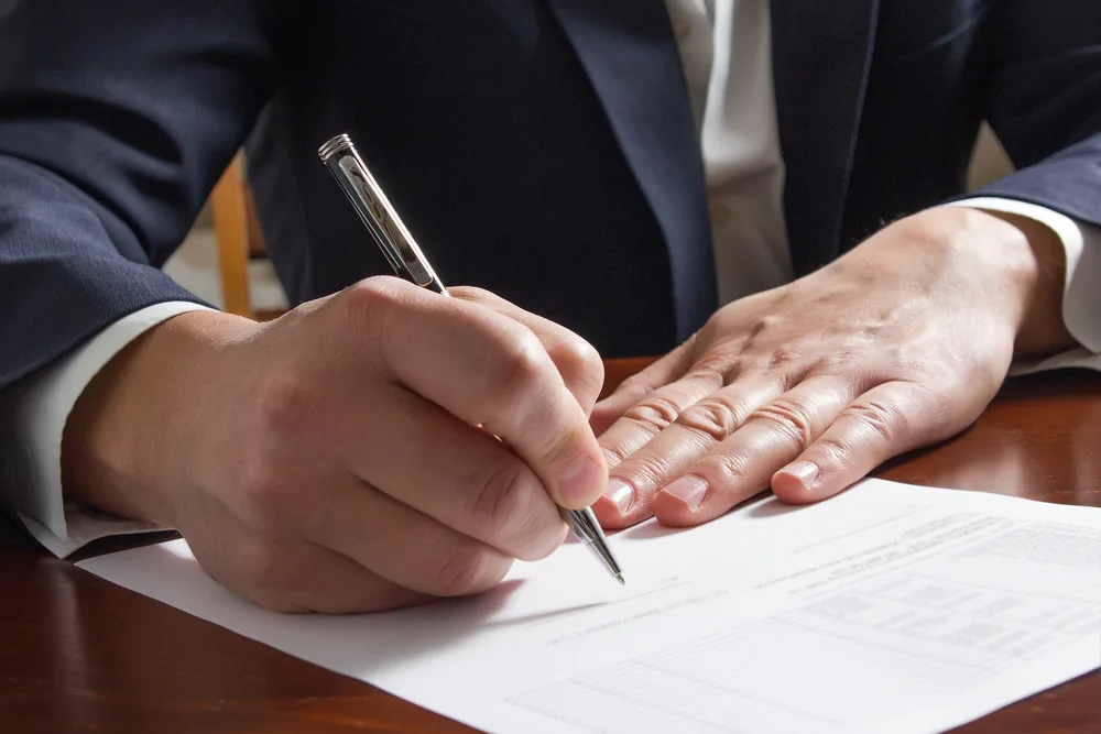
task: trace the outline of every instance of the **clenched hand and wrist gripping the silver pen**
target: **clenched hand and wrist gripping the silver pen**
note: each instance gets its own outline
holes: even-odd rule
[[[603,492],[603,372],[568,330],[453,294],[377,277],[268,324],[155,327],[78,401],[67,499],[178,529],[215,579],[280,611],[495,585],[562,543],[555,503]]]

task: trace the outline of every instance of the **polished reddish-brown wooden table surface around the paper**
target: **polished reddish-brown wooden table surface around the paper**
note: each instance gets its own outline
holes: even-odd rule
[[[641,364],[609,363],[608,384]],[[876,475],[1101,506],[1101,375],[1013,380],[970,430]],[[0,546],[0,732],[470,731],[69,561]],[[1101,732],[1101,675],[958,732]]]

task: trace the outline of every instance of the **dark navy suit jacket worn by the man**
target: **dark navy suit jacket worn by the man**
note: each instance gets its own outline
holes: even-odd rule
[[[983,194],[1101,223],[1098,0],[771,7],[797,274],[960,196],[984,119],[1020,172]],[[0,12],[0,390],[128,313],[193,299],[156,266],[247,140],[294,303],[390,272],[316,157],[349,132],[445,283],[609,357],[671,349],[717,307],[664,0]]]

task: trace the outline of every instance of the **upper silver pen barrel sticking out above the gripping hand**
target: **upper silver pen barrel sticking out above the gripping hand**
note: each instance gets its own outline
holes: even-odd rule
[[[317,155],[394,272],[416,285],[447,295],[447,288],[363,163],[351,138],[340,134],[328,140],[318,149]]]

